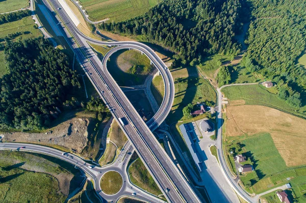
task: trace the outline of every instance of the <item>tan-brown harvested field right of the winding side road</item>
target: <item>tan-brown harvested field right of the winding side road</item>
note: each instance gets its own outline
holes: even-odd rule
[[[306,164],[306,120],[257,105],[227,106],[226,135],[269,132],[287,166]]]

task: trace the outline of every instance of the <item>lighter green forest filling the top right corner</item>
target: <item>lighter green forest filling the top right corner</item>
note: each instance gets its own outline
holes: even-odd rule
[[[297,64],[306,48],[306,2],[252,0],[251,23],[245,43],[254,71],[278,86],[278,97],[302,105],[306,69]]]

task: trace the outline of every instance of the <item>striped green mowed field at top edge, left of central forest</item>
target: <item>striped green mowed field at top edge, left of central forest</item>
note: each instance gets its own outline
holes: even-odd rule
[[[147,12],[158,0],[80,0],[90,19],[124,21]]]

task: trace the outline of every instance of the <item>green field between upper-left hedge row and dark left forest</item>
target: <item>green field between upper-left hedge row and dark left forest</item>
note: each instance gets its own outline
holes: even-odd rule
[[[14,22],[8,22],[0,25],[0,40],[6,37],[8,34],[13,34],[16,32],[23,33],[21,36],[15,39],[29,39],[42,36],[41,32],[34,27],[35,23],[31,16],[24,17],[21,20]]]

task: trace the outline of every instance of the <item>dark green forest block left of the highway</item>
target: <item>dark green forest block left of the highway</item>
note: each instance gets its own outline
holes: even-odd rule
[[[68,93],[81,86],[67,56],[43,38],[8,41],[5,56],[9,73],[0,79],[0,128],[48,127]]]

